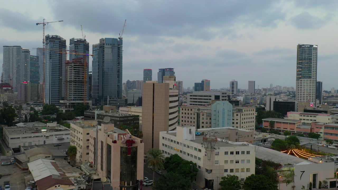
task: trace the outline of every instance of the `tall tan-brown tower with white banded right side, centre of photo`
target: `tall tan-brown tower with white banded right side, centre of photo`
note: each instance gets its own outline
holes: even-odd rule
[[[178,117],[178,90],[169,83],[145,82],[142,94],[144,150],[159,148],[159,133],[174,129]]]

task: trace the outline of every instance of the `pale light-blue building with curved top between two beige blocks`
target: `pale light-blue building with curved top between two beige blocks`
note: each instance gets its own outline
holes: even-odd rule
[[[232,104],[228,101],[216,101],[211,105],[211,127],[232,127]]]

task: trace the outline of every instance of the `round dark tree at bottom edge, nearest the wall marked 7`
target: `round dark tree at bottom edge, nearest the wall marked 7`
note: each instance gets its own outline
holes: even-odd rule
[[[243,189],[244,190],[262,190],[262,189],[277,190],[278,186],[276,183],[274,183],[271,179],[269,179],[265,175],[251,174],[250,176],[246,177],[243,183]]]

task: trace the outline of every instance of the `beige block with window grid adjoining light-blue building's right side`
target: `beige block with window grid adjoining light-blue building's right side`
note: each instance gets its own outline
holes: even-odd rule
[[[234,128],[255,131],[256,109],[253,107],[234,107],[233,108]]]

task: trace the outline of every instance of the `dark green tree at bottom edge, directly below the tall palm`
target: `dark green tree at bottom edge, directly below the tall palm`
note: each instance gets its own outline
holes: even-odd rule
[[[154,190],[190,190],[190,180],[179,173],[168,172],[162,175],[152,189]]]

